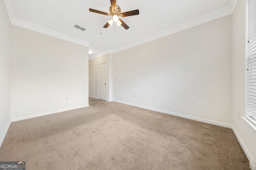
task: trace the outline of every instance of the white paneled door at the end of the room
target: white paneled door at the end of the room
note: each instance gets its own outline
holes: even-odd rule
[[[107,72],[106,63],[98,65],[98,98],[101,100],[107,100],[106,86],[107,86]]]

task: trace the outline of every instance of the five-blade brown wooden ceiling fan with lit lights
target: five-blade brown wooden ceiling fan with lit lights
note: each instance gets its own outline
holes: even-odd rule
[[[98,10],[89,8],[90,12],[95,12],[95,13],[103,14],[106,16],[112,16],[112,18],[103,26],[104,28],[107,28],[109,25],[112,25],[114,22],[116,22],[117,26],[122,25],[124,27],[124,29],[128,29],[129,26],[126,25],[126,23],[124,23],[124,21],[122,21],[118,17],[135,16],[135,15],[140,14],[139,10],[132,10],[132,11],[121,13],[121,8],[120,8],[120,6],[116,5],[116,0],[110,0],[110,3],[111,3],[111,6],[109,7],[110,13],[106,13],[106,12],[102,12],[102,11],[98,11]]]

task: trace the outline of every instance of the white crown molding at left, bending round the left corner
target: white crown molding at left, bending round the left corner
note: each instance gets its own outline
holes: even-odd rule
[[[26,21],[26,20],[22,20],[20,18],[15,17],[13,9],[12,9],[12,1],[11,0],[4,0],[4,2],[5,2],[5,5],[6,5],[7,11],[8,11],[8,15],[9,15],[9,18],[10,18],[10,21],[11,21],[12,25],[17,25],[19,27],[30,29],[32,31],[36,31],[36,32],[39,32],[39,33],[50,35],[52,37],[63,39],[65,41],[70,41],[72,43],[76,43],[76,44],[79,44],[79,45],[89,47],[90,42],[88,42],[88,41],[84,41],[82,39],[72,37],[70,35],[66,35],[64,33],[60,33],[58,31],[55,31],[53,29],[49,29],[49,28],[43,27],[41,25],[37,25],[35,23],[29,22],[29,21]]]

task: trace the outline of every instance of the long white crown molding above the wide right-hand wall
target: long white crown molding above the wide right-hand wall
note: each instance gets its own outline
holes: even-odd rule
[[[227,16],[229,14],[232,14],[233,10],[234,10],[234,6],[236,5],[236,1],[237,0],[231,0],[230,4],[219,8],[218,10],[214,10],[212,12],[208,12],[204,15],[198,16],[196,18],[193,18],[191,20],[188,21],[184,21],[180,24],[174,25],[172,27],[169,27],[167,29],[163,29],[161,31],[158,31],[156,33],[153,33],[151,35],[148,35],[146,37],[143,37],[141,39],[138,39],[136,41],[133,41],[131,43],[128,43],[126,45],[123,45],[121,47],[118,47],[116,49],[112,50],[112,53],[118,53],[120,51],[124,51],[126,49],[132,48],[132,47],[136,47],[138,45],[147,43],[149,41],[153,41],[155,39],[161,38],[161,37],[165,37],[167,35],[173,34],[173,33],[177,33],[179,31],[194,27],[196,25],[200,25],[202,23],[206,23],[208,21],[212,21],[224,16]]]

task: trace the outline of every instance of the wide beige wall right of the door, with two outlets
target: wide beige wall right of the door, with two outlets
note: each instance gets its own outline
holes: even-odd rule
[[[230,127],[231,21],[228,15],[113,54],[113,100]]]

